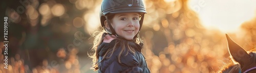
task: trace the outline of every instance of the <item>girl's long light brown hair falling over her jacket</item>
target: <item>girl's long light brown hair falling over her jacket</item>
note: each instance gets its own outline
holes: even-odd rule
[[[113,17],[111,16],[109,19],[112,21],[112,18]],[[99,67],[98,67],[99,55],[98,55],[97,48],[102,43],[105,34],[107,34],[107,32],[104,30],[104,28],[101,28],[100,30],[95,31],[92,35],[92,37],[95,38],[93,41],[93,47],[92,47],[92,51],[94,53],[90,54],[89,57],[93,59],[91,69],[93,69],[95,71],[99,69]],[[139,34],[137,34],[137,37],[133,41],[135,42],[135,44],[140,44],[141,46],[143,45],[143,40],[141,40],[141,38],[139,37]],[[110,58],[113,55],[114,51],[118,47],[121,47],[120,53],[118,55],[118,62],[120,63],[120,57],[122,54],[124,54],[125,56],[128,55],[129,52],[131,52],[132,54],[135,54],[135,52],[136,52],[135,48],[133,48],[131,44],[133,44],[133,43],[128,42],[128,41],[123,41],[122,38],[116,38],[115,45],[113,46],[113,48],[110,48],[108,51],[106,51],[106,53],[103,55],[102,59]],[[125,51],[125,49],[127,49],[128,51]],[[110,56],[106,57],[107,55],[110,55]]]

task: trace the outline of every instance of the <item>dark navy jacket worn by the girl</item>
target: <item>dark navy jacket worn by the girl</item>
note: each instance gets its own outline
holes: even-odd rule
[[[120,41],[118,39],[112,40],[110,43],[102,42],[98,49],[98,67],[99,73],[150,73],[150,69],[148,69],[144,56],[141,53],[141,45],[127,41],[121,40],[122,42],[127,42],[129,45],[135,48],[136,53],[135,55],[129,52],[127,55],[127,49],[121,54],[120,61],[118,62],[118,55],[121,52],[120,44],[117,44],[117,49],[113,52],[112,56],[107,54],[105,58],[102,59],[105,55],[106,51],[110,50],[113,51],[113,46],[115,45],[116,41]]]

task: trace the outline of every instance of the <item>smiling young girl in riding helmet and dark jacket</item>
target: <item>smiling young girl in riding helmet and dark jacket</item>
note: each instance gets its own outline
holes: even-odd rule
[[[93,36],[94,70],[99,73],[150,73],[139,37],[144,14],[142,0],[103,0],[100,21],[104,28]]]

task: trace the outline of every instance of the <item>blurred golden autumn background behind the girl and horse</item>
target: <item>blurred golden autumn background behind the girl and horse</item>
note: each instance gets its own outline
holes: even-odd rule
[[[144,0],[139,33],[153,73],[217,72],[229,62],[225,33],[249,51],[256,44],[255,1]],[[101,0],[1,1],[0,72],[93,73],[92,33]],[[4,17],[8,17],[8,55]],[[4,59],[8,56],[8,69]]]

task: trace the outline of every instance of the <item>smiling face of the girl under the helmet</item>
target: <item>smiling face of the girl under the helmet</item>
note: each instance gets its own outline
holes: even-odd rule
[[[139,17],[139,13],[117,13],[114,15],[111,25],[117,35],[132,40],[139,32]],[[109,27],[107,28],[109,29]]]

